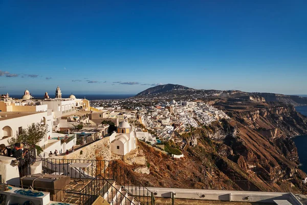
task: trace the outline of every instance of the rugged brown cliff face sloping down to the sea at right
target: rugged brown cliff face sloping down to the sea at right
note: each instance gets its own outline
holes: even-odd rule
[[[231,113],[231,120],[182,135],[189,145],[182,159],[140,143],[150,174],[138,178],[146,186],[306,192],[306,174],[287,136],[306,133],[307,119],[292,106],[231,108]]]

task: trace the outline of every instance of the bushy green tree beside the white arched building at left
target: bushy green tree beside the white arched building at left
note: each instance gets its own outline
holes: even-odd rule
[[[36,145],[37,142],[42,140],[48,133],[48,125],[40,125],[40,123],[28,126],[28,129],[22,129],[20,133],[16,134],[8,140],[9,145],[13,145],[16,142],[26,143],[29,145]]]

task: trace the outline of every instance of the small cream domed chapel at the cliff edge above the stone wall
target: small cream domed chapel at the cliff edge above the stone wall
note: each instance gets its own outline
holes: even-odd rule
[[[119,155],[126,155],[131,150],[136,149],[135,132],[131,129],[128,122],[123,121],[110,137],[111,152]]]

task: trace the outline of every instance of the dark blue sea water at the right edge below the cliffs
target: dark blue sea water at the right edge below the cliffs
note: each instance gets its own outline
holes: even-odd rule
[[[297,106],[296,111],[307,116],[307,106]],[[302,164],[299,168],[307,173],[307,135],[300,135],[293,138],[297,147],[299,161]]]

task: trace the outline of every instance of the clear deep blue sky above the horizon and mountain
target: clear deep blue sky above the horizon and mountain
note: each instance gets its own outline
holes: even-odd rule
[[[307,1],[0,0],[0,93],[307,94]]]

